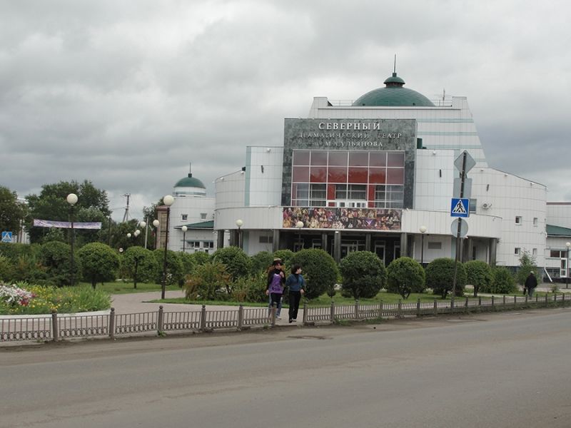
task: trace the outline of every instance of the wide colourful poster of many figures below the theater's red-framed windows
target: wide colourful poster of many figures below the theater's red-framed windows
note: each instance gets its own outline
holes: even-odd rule
[[[402,210],[375,208],[285,207],[283,228],[400,230]]]

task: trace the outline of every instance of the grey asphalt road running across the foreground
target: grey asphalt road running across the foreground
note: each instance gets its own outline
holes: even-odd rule
[[[0,349],[0,427],[571,427],[571,309]]]

